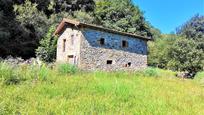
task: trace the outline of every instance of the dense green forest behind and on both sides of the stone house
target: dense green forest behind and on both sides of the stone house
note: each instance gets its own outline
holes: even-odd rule
[[[131,0],[0,0],[0,57],[54,61],[52,33],[64,17],[151,37],[150,66],[192,75],[204,69],[204,16],[193,16],[174,34],[161,34]]]

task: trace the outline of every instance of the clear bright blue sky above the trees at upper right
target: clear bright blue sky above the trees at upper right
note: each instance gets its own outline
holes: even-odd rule
[[[204,0],[133,0],[145,18],[162,33],[175,29],[195,14],[204,15]]]

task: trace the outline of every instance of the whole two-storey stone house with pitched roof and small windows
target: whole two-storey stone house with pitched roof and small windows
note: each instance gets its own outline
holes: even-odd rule
[[[63,19],[58,35],[57,59],[84,70],[138,70],[147,67],[150,38]]]

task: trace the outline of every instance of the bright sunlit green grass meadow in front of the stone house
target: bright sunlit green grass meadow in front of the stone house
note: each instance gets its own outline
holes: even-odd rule
[[[1,65],[1,64],[0,64]],[[22,66],[0,69],[0,114],[154,114],[203,115],[204,87],[196,80],[175,78],[174,72],[76,72],[64,74],[58,66],[41,69]],[[61,68],[61,67],[60,67]],[[66,67],[62,67],[66,68]],[[19,75],[18,84],[5,84]],[[153,75],[153,77],[151,77]]]

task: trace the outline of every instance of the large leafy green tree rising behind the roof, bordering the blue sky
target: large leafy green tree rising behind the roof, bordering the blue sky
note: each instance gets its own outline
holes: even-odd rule
[[[151,37],[150,26],[143,13],[131,0],[99,0],[94,12],[95,22],[107,28]]]

